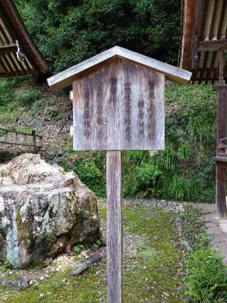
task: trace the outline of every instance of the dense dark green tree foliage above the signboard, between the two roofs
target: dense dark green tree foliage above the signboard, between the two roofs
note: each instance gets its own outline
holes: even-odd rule
[[[177,64],[180,0],[16,0],[57,73],[118,45]]]

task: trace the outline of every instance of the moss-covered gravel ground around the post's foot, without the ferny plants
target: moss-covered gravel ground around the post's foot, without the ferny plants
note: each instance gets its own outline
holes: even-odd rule
[[[182,205],[167,201],[142,200],[124,200],[123,205],[123,272],[124,287],[128,296],[126,302],[184,302],[182,294],[184,292],[185,250],[180,244],[180,222],[176,220],[177,217],[174,215],[174,211],[182,209]],[[104,199],[99,201],[99,213],[102,240],[105,245],[106,202]],[[158,218],[160,218],[160,222]],[[165,229],[163,230],[163,228]],[[101,302],[106,302],[105,258],[98,265],[92,266],[93,269],[85,272],[81,277],[72,279],[69,276],[69,272],[79,262],[87,260],[97,250],[98,246],[95,245],[95,247],[83,250],[77,256],[59,255],[45,268],[7,270],[7,272],[1,270],[0,278],[9,278],[15,275],[26,277],[28,289],[21,294],[15,294],[5,289],[0,292],[0,297],[4,302],[30,302],[27,300],[33,293],[32,302],[40,302],[40,298],[43,302],[63,302],[62,288],[58,289],[56,286],[54,293],[50,290],[52,289],[51,285],[57,284],[58,281],[61,285],[63,283],[65,291],[69,291],[65,297],[65,302],[100,302],[97,298],[102,298]],[[162,260],[162,262],[158,260]],[[153,270],[150,270],[151,268]],[[90,288],[93,279],[98,283],[95,296]],[[134,280],[137,282],[136,289]],[[70,292],[73,285],[77,285],[77,292]],[[86,287],[89,287],[89,291]],[[94,301],[89,301],[89,299],[73,301],[74,296],[77,298],[78,296],[79,298],[87,296],[86,298],[89,298],[89,292],[91,292],[92,297],[94,296]],[[85,293],[87,294],[85,295]],[[56,295],[58,296],[56,301],[50,299],[51,297],[55,298]]]

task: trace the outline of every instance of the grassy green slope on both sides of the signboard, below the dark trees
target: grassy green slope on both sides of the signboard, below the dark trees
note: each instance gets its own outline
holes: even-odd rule
[[[214,201],[215,92],[210,85],[181,87],[167,83],[165,104],[165,151],[123,152],[123,196]],[[58,164],[74,170],[98,196],[105,196],[105,152],[72,150],[68,94],[56,94],[32,78],[1,80],[1,127],[28,130],[37,119],[42,121],[40,131],[47,149],[65,154]],[[63,132],[58,134],[65,121]]]

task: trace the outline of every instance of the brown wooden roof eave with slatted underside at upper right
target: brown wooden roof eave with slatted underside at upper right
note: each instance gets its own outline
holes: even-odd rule
[[[227,80],[227,1],[184,0],[179,66],[192,71],[194,81],[218,80],[218,50],[224,50]]]

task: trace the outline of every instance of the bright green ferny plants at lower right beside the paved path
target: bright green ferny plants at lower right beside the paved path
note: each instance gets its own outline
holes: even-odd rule
[[[187,256],[187,292],[190,302],[227,302],[227,267],[219,252],[211,250],[201,210],[188,206],[182,219],[182,233],[192,248]],[[193,226],[193,233],[192,233]]]

